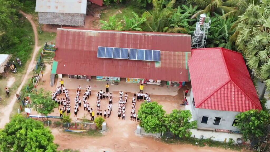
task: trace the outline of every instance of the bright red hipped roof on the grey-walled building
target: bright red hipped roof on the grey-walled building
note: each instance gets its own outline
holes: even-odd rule
[[[244,112],[261,103],[241,53],[224,48],[192,49],[188,61],[195,107]]]

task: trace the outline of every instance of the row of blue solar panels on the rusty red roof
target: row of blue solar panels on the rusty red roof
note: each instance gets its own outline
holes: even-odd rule
[[[159,50],[98,47],[97,57],[160,62]]]

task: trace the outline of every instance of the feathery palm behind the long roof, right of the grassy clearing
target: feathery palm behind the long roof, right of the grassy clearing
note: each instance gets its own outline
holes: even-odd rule
[[[144,31],[163,32],[166,27],[168,18],[173,15],[173,6],[176,0],[171,0],[165,5],[165,0],[153,0],[153,10],[144,12],[147,21]],[[164,8],[165,6],[165,8]]]

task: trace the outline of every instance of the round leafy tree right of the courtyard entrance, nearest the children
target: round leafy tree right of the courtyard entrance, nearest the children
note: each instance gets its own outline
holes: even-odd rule
[[[166,131],[164,124],[165,110],[157,102],[142,103],[138,111],[140,126],[146,133],[161,133]]]

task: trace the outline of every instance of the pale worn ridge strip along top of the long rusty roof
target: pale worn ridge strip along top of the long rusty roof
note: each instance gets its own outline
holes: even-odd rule
[[[57,28],[57,30],[69,30],[69,31],[91,31],[91,32],[104,32],[104,33],[125,33],[125,34],[138,34],[138,35],[158,35],[158,36],[180,36],[180,37],[191,37],[188,34],[181,33],[164,33],[164,32],[141,32],[141,31],[114,31],[114,30],[102,30],[102,29],[90,29],[90,28],[73,28],[63,27]]]

